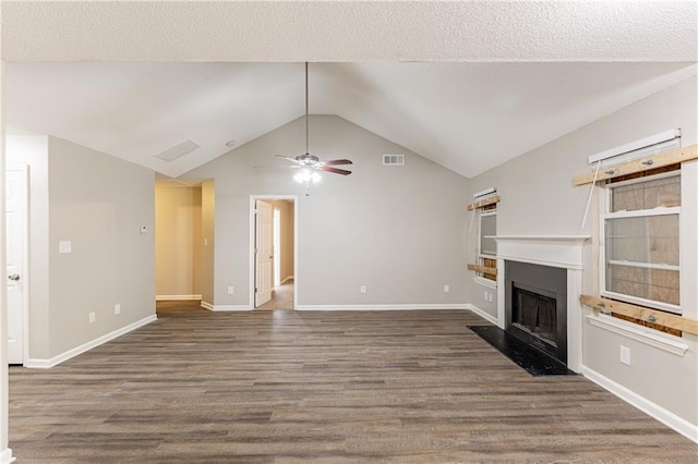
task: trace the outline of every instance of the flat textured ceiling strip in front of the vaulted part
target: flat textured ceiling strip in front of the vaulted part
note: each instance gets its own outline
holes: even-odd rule
[[[686,61],[695,1],[2,2],[9,61]]]

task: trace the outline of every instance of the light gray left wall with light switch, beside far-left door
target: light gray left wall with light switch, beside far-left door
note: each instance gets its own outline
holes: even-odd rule
[[[153,171],[56,137],[8,137],[8,160],[29,166],[29,357],[154,315]],[[59,254],[60,241],[72,253]]]

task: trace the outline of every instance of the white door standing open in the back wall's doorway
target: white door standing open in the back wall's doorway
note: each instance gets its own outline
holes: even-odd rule
[[[272,300],[273,227],[274,219],[272,217],[272,205],[257,199],[254,247],[254,307],[262,306]]]

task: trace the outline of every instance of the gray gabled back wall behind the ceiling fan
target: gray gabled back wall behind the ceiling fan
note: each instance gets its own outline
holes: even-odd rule
[[[216,181],[215,305],[250,305],[250,195],[299,196],[299,305],[466,303],[468,181],[341,118],[311,117],[310,127],[312,154],[354,161],[310,196],[291,170],[254,168],[303,154],[303,119],[185,175]],[[382,166],[383,154],[405,154],[406,166]]]

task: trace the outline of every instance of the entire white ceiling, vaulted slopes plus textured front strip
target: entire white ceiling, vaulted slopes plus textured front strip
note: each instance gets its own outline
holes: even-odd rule
[[[311,61],[312,114],[473,176],[696,75],[697,9],[3,2],[3,121],[179,176],[302,117]]]

